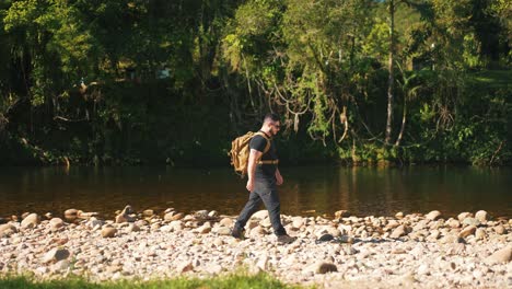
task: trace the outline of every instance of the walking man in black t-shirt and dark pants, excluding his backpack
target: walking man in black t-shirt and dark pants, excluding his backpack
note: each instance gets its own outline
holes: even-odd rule
[[[258,206],[263,200],[278,242],[291,243],[295,240],[295,238],[289,236],[282,227],[281,206],[277,192],[277,186],[283,183],[283,178],[277,166],[279,160],[276,146],[271,139],[279,132],[280,126],[279,116],[267,114],[261,129],[258,131],[260,134],[254,136],[249,142],[251,152],[246,185],[249,197],[233,228],[232,235],[234,238],[242,239],[245,224],[251,216],[258,210]]]

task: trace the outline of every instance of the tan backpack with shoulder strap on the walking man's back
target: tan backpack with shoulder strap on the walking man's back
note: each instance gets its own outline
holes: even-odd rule
[[[271,140],[264,132],[260,131],[248,131],[247,134],[235,138],[231,142],[231,165],[233,165],[235,173],[240,174],[241,177],[244,177],[244,175],[247,174],[248,157],[251,152],[249,142],[251,139],[253,139],[253,137],[255,136],[261,136],[267,140],[267,146],[265,147],[263,154],[267,153],[270,149]]]

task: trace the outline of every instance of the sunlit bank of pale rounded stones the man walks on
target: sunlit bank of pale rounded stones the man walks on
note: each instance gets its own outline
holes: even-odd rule
[[[486,211],[456,218],[439,211],[282,216],[289,234],[298,236],[291,244],[276,242],[266,211],[253,216],[243,241],[230,235],[234,217],[217,211],[135,213],[127,206],[115,220],[78,210],[65,215],[66,221],[25,213],[0,224],[0,273],[101,281],[245,268],[326,288],[512,288],[512,219],[492,219]]]

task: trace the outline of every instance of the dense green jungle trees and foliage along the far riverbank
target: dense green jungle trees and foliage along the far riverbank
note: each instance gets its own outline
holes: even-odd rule
[[[0,164],[510,164],[507,0],[2,0]]]

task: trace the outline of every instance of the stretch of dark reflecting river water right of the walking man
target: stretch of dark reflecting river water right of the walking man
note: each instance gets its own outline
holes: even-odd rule
[[[474,167],[304,167],[290,172],[292,184],[284,187],[283,198],[296,207],[327,213],[348,209],[382,216],[439,209],[453,216],[486,209],[494,216],[510,217],[510,172]],[[298,187],[306,193],[299,193]]]

